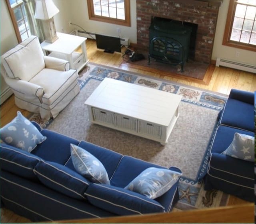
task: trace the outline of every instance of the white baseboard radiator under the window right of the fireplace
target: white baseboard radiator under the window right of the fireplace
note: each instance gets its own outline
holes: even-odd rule
[[[247,71],[251,73],[256,73],[256,66],[255,65],[248,65],[245,63],[239,63],[236,61],[231,61],[228,59],[218,57],[216,60],[216,67],[224,66],[232,69],[238,69],[242,71]]]

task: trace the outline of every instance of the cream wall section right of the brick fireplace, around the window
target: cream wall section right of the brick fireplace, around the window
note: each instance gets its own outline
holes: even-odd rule
[[[224,35],[224,29],[226,25],[226,17],[228,13],[228,0],[223,0],[219,9],[218,22],[216,26],[216,33],[212,51],[212,60],[216,60],[217,57],[238,61],[240,63],[246,63],[250,65],[256,65],[256,52],[246,51],[234,47],[228,47],[222,45],[222,39]],[[236,57],[236,52],[239,52],[239,57]]]

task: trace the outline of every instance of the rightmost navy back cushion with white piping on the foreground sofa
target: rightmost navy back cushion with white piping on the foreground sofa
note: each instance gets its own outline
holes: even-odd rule
[[[157,201],[120,187],[93,183],[85,195],[91,204],[118,215],[164,212]]]

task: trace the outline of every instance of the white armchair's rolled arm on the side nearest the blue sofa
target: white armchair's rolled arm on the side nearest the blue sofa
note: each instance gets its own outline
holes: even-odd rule
[[[34,83],[29,83],[24,80],[11,79],[8,77],[4,77],[4,81],[6,82],[6,84],[8,84],[8,86],[10,86],[12,90],[20,92],[22,94],[36,96],[42,103],[42,96],[44,95],[44,90],[42,86],[39,86]]]

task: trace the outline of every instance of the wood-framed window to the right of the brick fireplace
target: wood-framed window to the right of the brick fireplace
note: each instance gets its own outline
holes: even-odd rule
[[[230,0],[222,44],[256,51],[255,20],[255,0]]]

